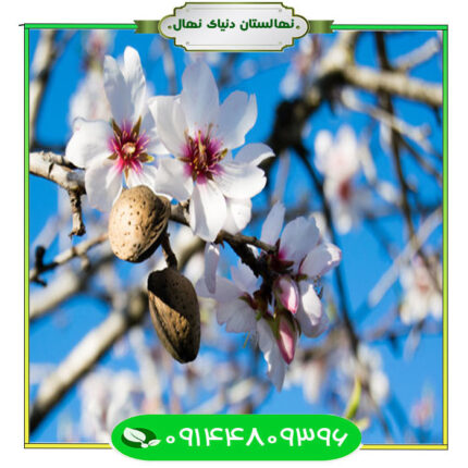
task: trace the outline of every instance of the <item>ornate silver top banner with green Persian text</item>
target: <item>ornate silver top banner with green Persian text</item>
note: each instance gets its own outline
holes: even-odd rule
[[[160,33],[187,51],[281,51],[307,33],[331,33],[333,21],[308,22],[282,3],[185,3],[136,33]]]

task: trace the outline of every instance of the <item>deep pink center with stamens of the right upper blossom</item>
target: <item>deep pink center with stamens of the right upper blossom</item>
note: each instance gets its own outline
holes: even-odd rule
[[[227,153],[222,148],[222,143],[211,136],[210,125],[208,132],[199,130],[194,137],[185,135],[182,161],[186,163],[186,170],[194,181],[205,182],[219,174],[221,167],[219,162]]]

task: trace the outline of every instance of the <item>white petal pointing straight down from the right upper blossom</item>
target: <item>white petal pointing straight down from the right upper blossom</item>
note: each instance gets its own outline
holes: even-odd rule
[[[226,202],[214,182],[207,180],[195,185],[188,212],[194,233],[213,242],[226,219]]]

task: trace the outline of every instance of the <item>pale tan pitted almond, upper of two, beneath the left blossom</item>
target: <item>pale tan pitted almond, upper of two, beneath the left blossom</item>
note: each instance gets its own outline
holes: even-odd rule
[[[145,185],[122,192],[109,215],[109,242],[122,260],[138,263],[158,248],[171,204]]]

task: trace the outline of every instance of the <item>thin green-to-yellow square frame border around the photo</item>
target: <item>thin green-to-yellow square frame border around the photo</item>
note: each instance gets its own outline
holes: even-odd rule
[[[284,7],[284,5],[283,5]],[[294,12],[294,10],[293,10]],[[111,448],[102,443],[29,442],[29,30],[30,29],[136,29],[128,23],[25,23],[24,27],[24,447]],[[365,444],[360,449],[448,449],[448,25],[332,24],[333,30],[442,30],[443,37],[443,337],[442,337],[442,443]],[[229,52],[226,52],[229,53]],[[231,52],[233,53],[233,52]],[[235,52],[234,52],[235,53]]]

